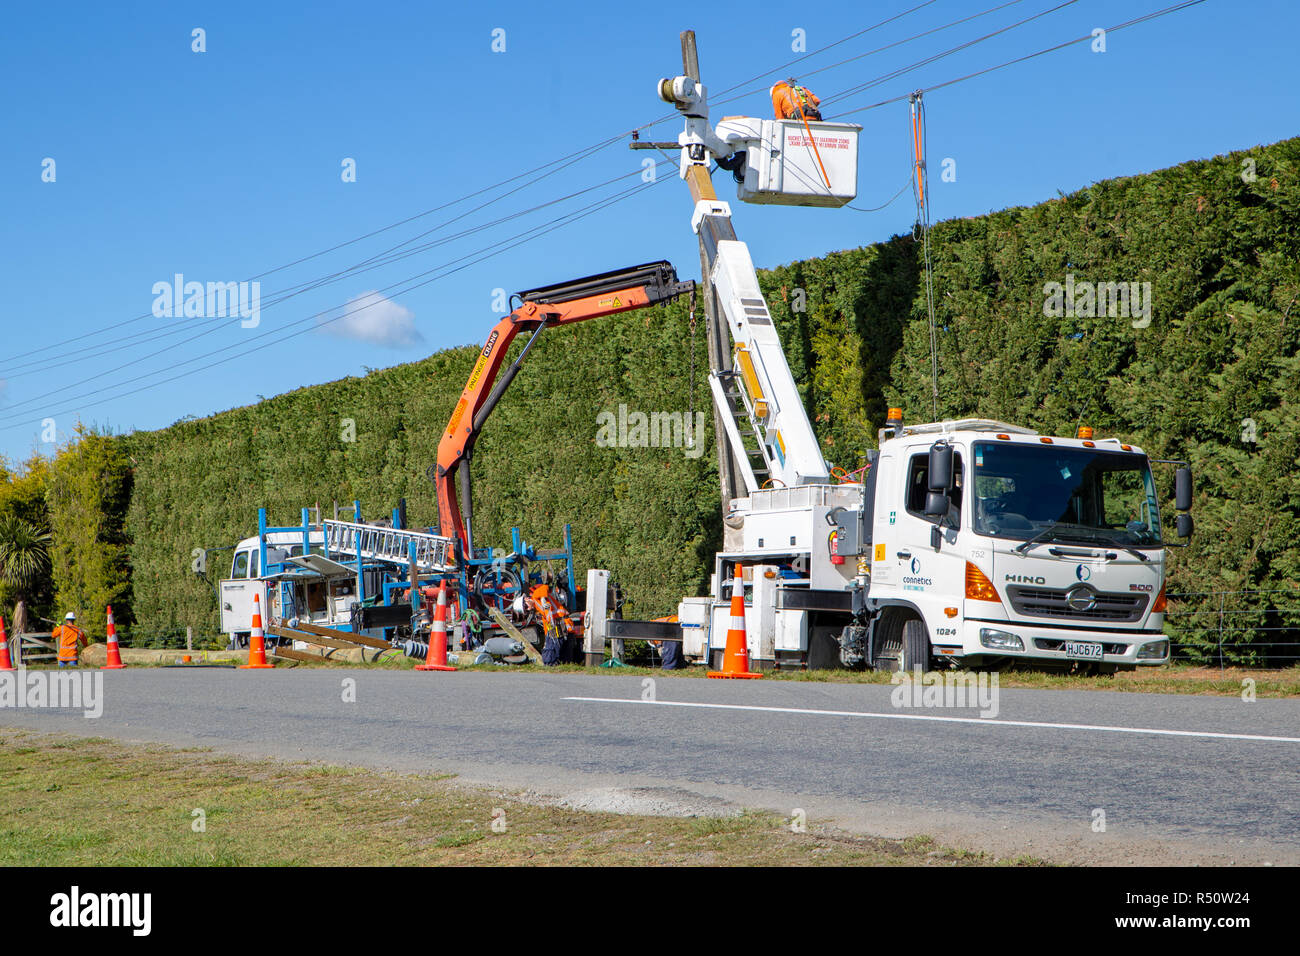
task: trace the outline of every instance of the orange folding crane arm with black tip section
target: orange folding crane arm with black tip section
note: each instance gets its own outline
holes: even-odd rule
[[[434,476],[438,492],[438,522],[443,535],[455,535],[460,540],[467,558],[473,554],[469,462],[473,458],[474,442],[542,330],[552,325],[572,325],[588,319],[656,306],[694,287],[696,284],[692,281],[679,282],[676,269],[660,260],[517,293],[520,306],[497,323],[488,336],[488,342],[478,354],[469,381],[465,382],[460,401],[456,402],[447,428],[442,433],[442,441],[438,442]],[[532,332],[532,336],[524,350],[506,369],[500,381],[497,381],[497,373],[506,360],[511,342],[515,341],[515,336],[525,330]]]

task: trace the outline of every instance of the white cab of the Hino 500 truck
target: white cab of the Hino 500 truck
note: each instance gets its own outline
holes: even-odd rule
[[[859,527],[845,535],[870,557],[840,637],[845,663],[1034,659],[1114,672],[1169,661],[1169,542],[1140,447],[1089,429],[1058,438],[983,419],[890,418]],[[1176,485],[1186,511],[1186,467]],[[1178,533],[1191,532],[1179,515]]]

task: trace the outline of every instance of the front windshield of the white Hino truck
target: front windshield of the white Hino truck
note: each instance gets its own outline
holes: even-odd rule
[[[1145,455],[1053,445],[975,442],[975,532],[1027,541],[1160,548],[1156,483]]]

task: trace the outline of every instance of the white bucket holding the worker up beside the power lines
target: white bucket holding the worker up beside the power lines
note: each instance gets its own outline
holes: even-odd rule
[[[718,124],[719,138],[745,151],[746,203],[844,206],[858,195],[858,134],[848,122],[733,117]],[[809,135],[811,133],[811,137]]]

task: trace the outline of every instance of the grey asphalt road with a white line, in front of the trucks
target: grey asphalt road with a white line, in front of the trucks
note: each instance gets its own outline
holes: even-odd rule
[[[641,678],[604,674],[127,670],[104,674],[98,719],[0,706],[0,726],[451,771],[593,809],[801,808],[1000,855],[1300,864],[1300,700],[1001,689],[984,719],[896,708],[874,684],[653,689],[644,701]]]

